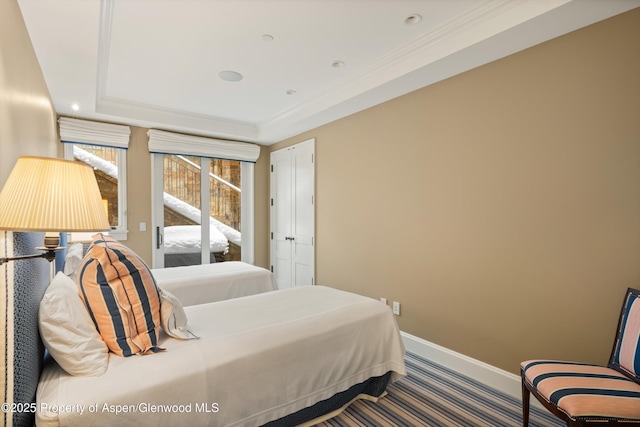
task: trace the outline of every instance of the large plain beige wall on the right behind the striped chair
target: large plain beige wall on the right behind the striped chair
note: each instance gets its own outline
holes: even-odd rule
[[[638,40],[640,9],[272,146],[316,138],[317,283],[514,373],[606,362],[640,286]]]

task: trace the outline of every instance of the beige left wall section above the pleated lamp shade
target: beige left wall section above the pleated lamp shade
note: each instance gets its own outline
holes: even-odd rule
[[[16,0],[0,0],[0,188],[20,156],[57,157],[56,115]]]

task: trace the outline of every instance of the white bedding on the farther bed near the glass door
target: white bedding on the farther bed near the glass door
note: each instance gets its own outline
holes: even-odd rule
[[[276,289],[273,274],[241,261],[151,270],[158,286],[182,305],[204,304]]]

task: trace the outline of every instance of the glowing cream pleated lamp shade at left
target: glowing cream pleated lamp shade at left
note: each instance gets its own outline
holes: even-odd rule
[[[45,157],[18,159],[0,193],[0,230],[109,229],[91,167]]]

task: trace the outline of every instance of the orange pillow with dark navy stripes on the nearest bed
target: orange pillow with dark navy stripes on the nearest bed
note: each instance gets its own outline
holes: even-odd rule
[[[149,354],[160,331],[160,296],[149,267],[131,249],[96,234],[78,270],[78,287],[109,350]]]

